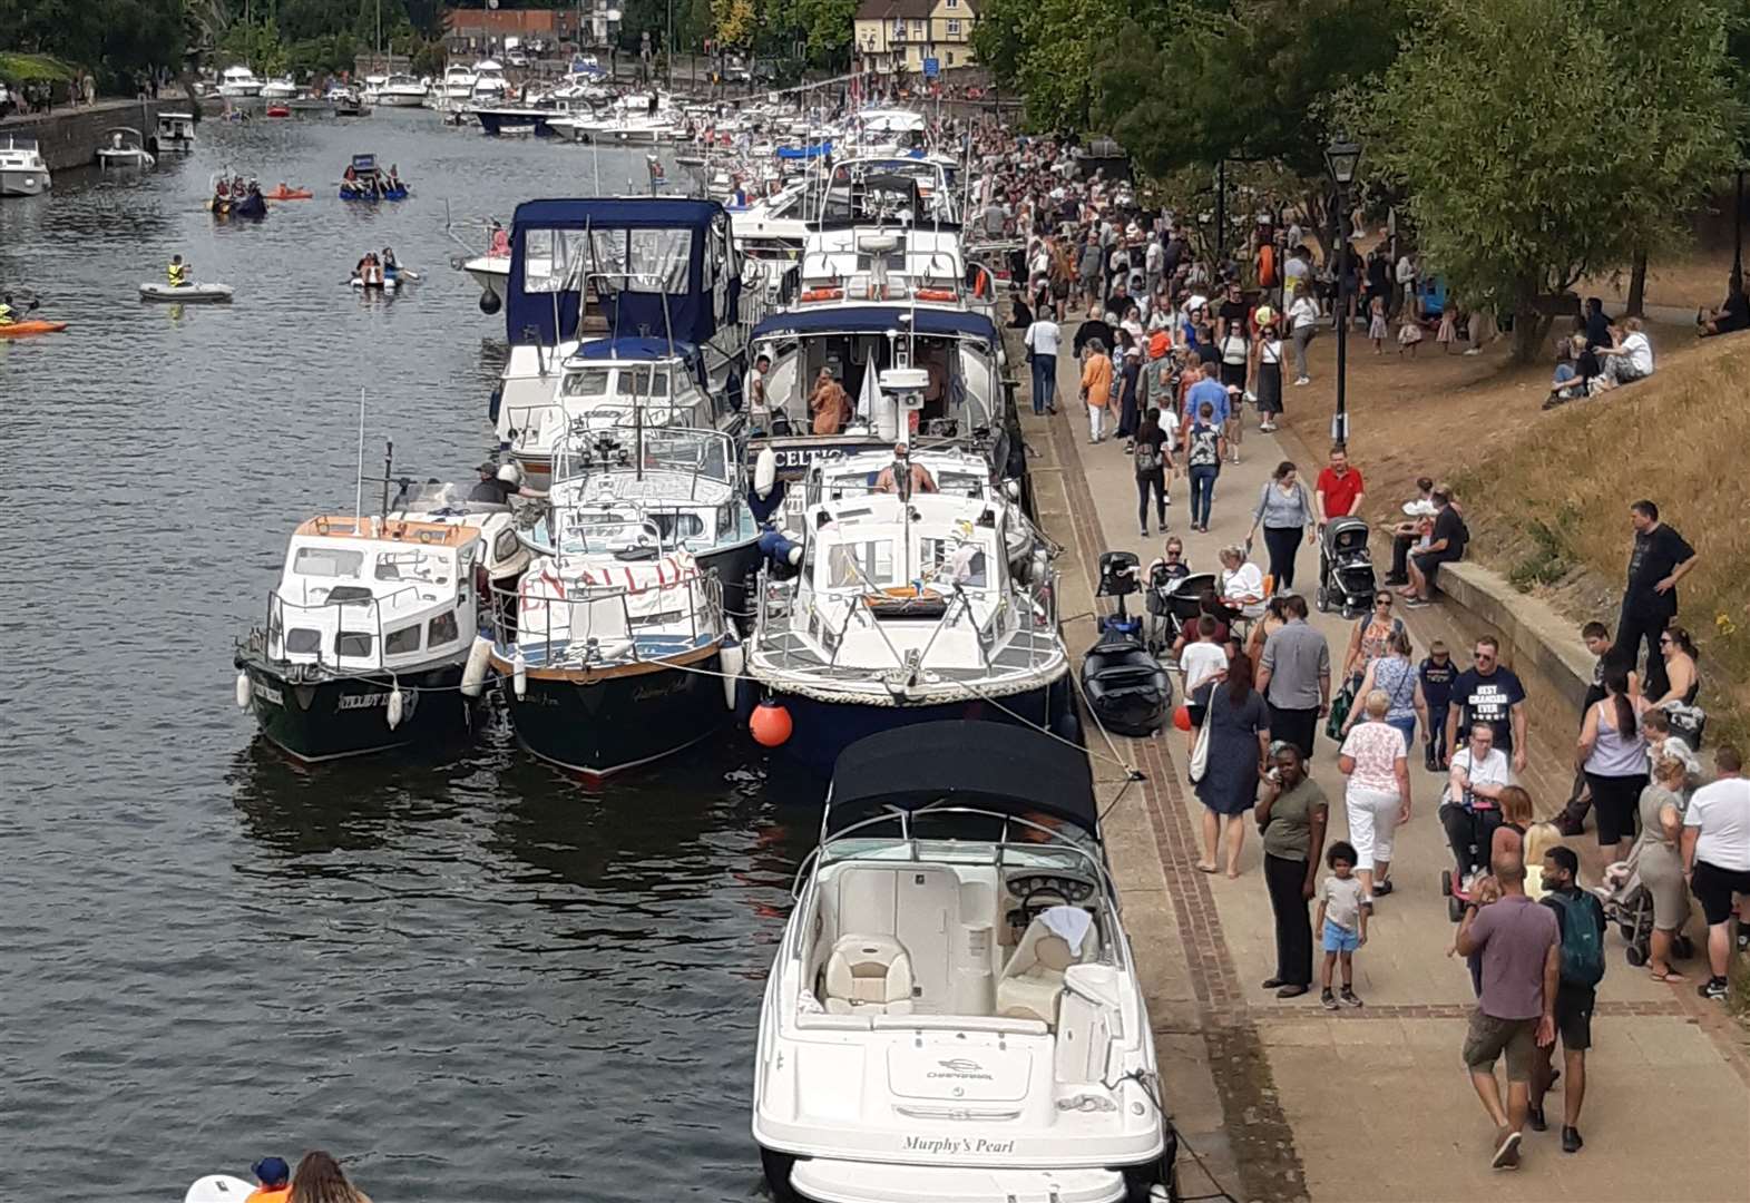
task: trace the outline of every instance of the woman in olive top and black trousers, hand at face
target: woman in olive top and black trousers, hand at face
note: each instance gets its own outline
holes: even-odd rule
[[[1300,749],[1283,744],[1258,800],[1264,884],[1270,891],[1270,911],[1276,912],[1276,972],[1265,979],[1264,988],[1274,989],[1278,998],[1298,998],[1312,984],[1312,921],[1307,904],[1318,884],[1328,820],[1330,802],[1306,774]]]

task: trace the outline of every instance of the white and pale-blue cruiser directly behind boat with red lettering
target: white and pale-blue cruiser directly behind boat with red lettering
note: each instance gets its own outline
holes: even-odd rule
[[[574,515],[635,513],[718,580],[732,620],[749,613],[763,559],[735,441],[723,431],[642,424],[579,427],[556,448],[550,511],[523,531],[539,555],[581,552]]]

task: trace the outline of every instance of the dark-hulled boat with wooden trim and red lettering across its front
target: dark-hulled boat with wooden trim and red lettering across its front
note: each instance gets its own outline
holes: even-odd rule
[[[597,786],[730,720],[719,678],[732,634],[716,576],[654,518],[562,503],[555,553],[499,594],[490,655],[518,742]]]

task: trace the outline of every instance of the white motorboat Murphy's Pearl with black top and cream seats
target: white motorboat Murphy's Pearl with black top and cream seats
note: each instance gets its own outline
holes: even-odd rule
[[[1080,748],[989,721],[852,744],[794,897],[754,1063],[775,1198],[1176,1198]]]

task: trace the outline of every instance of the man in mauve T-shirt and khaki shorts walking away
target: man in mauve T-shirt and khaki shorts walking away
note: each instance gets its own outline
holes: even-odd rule
[[[1502,897],[1486,907],[1465,907],[1458,954],[1482,954],[1482,989],[1465,1033],[1465,1066],[1482,1110],[1494,1121],[1496,1170],[1519,1168],[1531,1108],[1531,1066],[1538,1045],[1556,1040],[1556,991],[1561,982],[1561,940],[1556,914],[1526,897],[1519,853],[1500,856],[1494,881]],[[1507,1054],[1507,1105],[1502,1107],[1494,1063]]]

